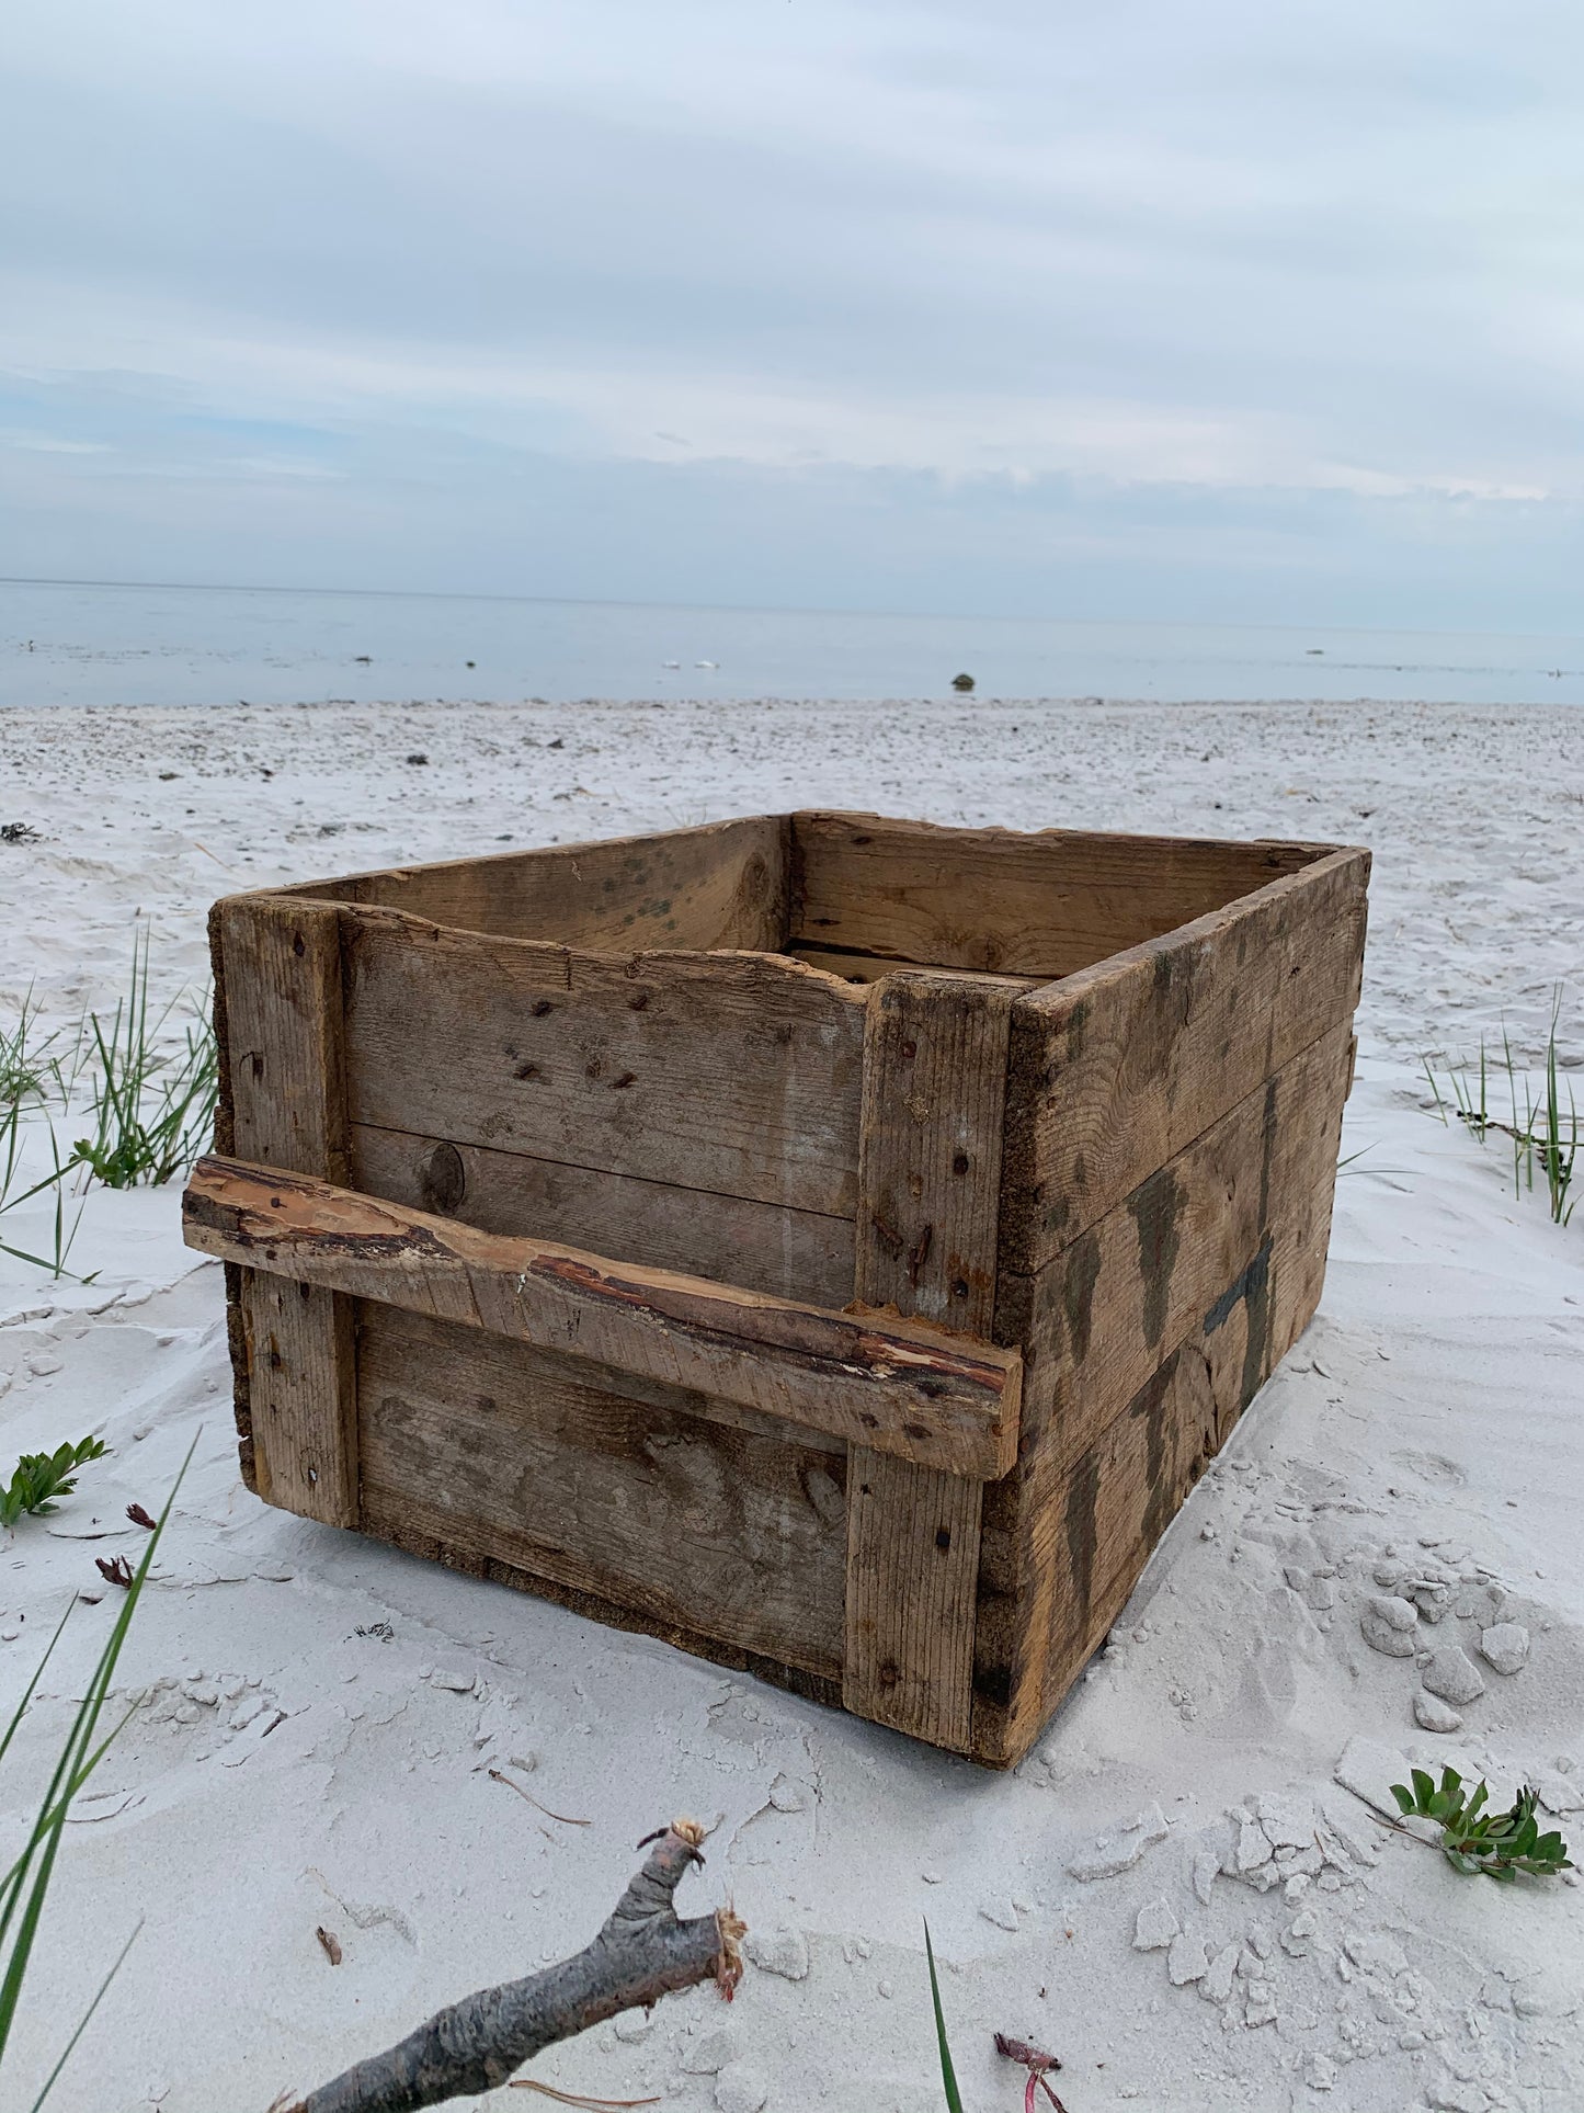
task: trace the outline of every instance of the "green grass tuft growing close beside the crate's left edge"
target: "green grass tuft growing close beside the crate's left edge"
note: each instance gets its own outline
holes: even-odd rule
[[[95,1126],[78,1139],[76,1160],[106,1188],[161,1188],[209,1141],[220,1092],[215,1037],[201,1016],[188,1023],[182,1050],[161,1050],[171,1010],[150,1018],[144,932],[133,940],[131,987],[110,1023],[89,1014]]]

